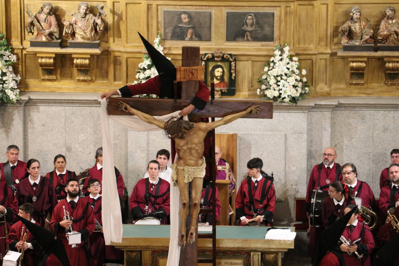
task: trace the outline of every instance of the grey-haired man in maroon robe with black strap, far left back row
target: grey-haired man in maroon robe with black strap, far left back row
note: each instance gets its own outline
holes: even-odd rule
[[[10,187],[14,186],[16,188],[20,180],[24,178],[26,173],[26,162],[18,160],[19,155],[20,155],[20,148],[18,148],[18,146],[10,145],[7,147],[6,157],[8,161],[0,164],[0,171],[1,171],[0,183],[2,185],[7,184]],[[8,170],[6,169],[6,172],[7,171],[11,172],[13,180],[11,178],[6,177],[6,174],[4,172],[4,166],[8,168]],[[13,190],[15,192],[15,189]]]

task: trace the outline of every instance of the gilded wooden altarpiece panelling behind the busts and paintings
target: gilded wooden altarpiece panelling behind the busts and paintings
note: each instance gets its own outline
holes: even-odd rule
[[[96,4],[104,5],[105,30],[98,49],[68,48],[68,37],[62,37],[62,48],[30,47],[24,24],[29,4],[37,12],[45,1],[4,0],[0,3],[0,31],[18,56],[14,67],[22,76],[22,91],[103,92],[131,84],[142,61],[144,48],[137,32],[152,42],[162,32],[163,10],[209,12],[210,40],[165,40],[165,54],[180,65],[181,47],[200,46],[201,54],[219,48],[236,56],[236,93],[233,98],[258,98],[257,79],[263,64],[278,43],[290,46],[291,56],[299,57],[300,68],[307,71],[310,97],[316,96],[398,96],[398,55],[391,52],[342,54],[338,33],[349,18],[352,6],[358,5],[373,24],[374,39],[384,18],[388,1],[344,2],[329,0],[303,1],[171,1],[171,0],[107,0],[88,1],[89,12],[96,15]],[[77,12],[80,0],[52,1],[60,35],[61,19]],[[399,8],[399,5],[396,6]],[[273,13],[273,41],[226,40],[228,12],[243,14]],[[166,13],[167,14],[167,13]],[[256,13],[257,14],[257,13]],[[237,22],[243,23],[243,21]],[[271,40],[270,36],[267,40]],[[355,73],[355,74],[354,74]]]

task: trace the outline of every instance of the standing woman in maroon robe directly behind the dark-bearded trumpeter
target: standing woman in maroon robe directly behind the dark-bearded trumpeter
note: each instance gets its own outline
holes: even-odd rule
[[[50,180],[53,185],[57,200],[65,199],[67,193],[65,192],[65,182],[70,178],[77,178],[76,173],[65,169],[67,160],[62,154],[58,154],[54,157],[54,171],[48,172],[45,177]]]

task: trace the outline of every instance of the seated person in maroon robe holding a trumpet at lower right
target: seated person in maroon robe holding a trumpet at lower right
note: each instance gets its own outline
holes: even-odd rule
[[[350,212],[355,207],[356,205],[347,205],[344,210],[344,214]],[[359,209],[355,208],[351,219],[342,233],[342,236],[344,236],[350,243],[354,242],[358,238],[361,238],[361,240],[352,245],[342,242],[340,249],[344,255],[345,265],[370,266],[371,263],[369,254],[374,248],[374,239],[370,228],[364,223],[358,221],[358,216]],[[348,252],[352,252],[352,254],[349,255]],[[363,254],[363,257],[358,260],[358,256],[355,254],[355,252],[358,252],[359,255]]]

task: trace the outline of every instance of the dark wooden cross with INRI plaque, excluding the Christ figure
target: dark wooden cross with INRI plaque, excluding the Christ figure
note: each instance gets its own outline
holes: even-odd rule
[[[181,99],[154,99],[154,98],[109,98],[108,114],[109,115],[132,115],[131,113],[119,110],[118,102],[122,100],[133,108],[150,114],[152,116],[162,116],[170,114],[177,110],[182,110],[188,106],[192,99],[196,96],[199,89],[199,81],[188,79],[199,79],[197,70],[199,69],[199,47],[182,47],[182,67],[192,67],[190,71],[180,71],[177,67],[176,79],[181,82]],[[182,73],[180,75],[180,73]],[[176,94],[175,94],[176,95]],[[213,98],[213,97],[212,97]],[[259,114],[247,114],[243,118],[273,118],[273,101],[265,100],[227,100],[218,99],[210,100],[203,110],[194,110],[189,115],[190,120],[199,117],[224,117],[228,114],[241,112],[251,105],[259,105],[261,108]],[[212,149],[214,151],[214,147]],[[197,227],[198,228],[198,227]],[[186,244],[180,250],[180,266],[197,265],[197,244],[198,232],[196,233],[196,241],[192,244]]]

